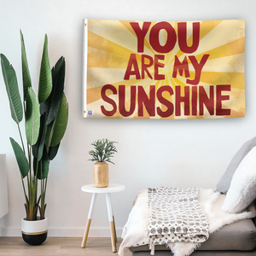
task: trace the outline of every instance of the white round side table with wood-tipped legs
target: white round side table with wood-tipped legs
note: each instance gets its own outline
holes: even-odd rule
[[[107,188],[96,188],[93,184],[89,184],[89,185],[82,186],[81,189],[84,192],[92,193],[92,197],[90,201],[90,209],[88,213],[87,223],[85,226],[84,237],[83,237],[81,247],[84,248],[86,245],[86,241],[87,241],[89,230],[90,230],[92,212],[96,202],[96,195],[104,193],[106,195],[106,202],[107,202],[107,208],[108,208],[108,220],[109,220],[110,233],[111,233],[112,251],[113,253],[116,253],[117,236],[116,236],[116,230],[115,230],[115,224],[114,224],[114,218],[113,218],[111,193],[125,190],[125,185],[110,183]]]

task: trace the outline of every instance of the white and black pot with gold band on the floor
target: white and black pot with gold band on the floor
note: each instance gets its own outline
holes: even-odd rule
[[[21,219],[22,238],[29,245],[39,245],[47,238],[48,218],[38,220]]]

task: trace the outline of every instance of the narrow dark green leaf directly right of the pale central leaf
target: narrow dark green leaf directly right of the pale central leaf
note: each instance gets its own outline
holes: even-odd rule
[[[45,114],[42,114],[40,117],[40,129],[39,129],[38,141],[36,144],[32,146],[32,154],[34,157],[38,159],[38,161],[41,160],[43,156],[46,129],[47,129],[46,117],[45,117]]]

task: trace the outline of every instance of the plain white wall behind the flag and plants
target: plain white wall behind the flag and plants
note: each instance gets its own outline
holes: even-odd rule
[[[256,2],[254,0],[0,0],[0,52],[20,73],[22,30],[33,88],[49,37],[51,65],[64,55],[67,61],[66,93],[70,106],[67,133],[51,162],[47,191],[49,236],[82,236],[90,195],[81,192],[92,183],[90,143],[108,137],[119,142],[111,183],[125,191],[113,194],[116,226],[124,226],[137,191],[149,186],[215,188],[231,157],[256,135]],[[147,120],[82,118],[83,18],[108,20],[246,20],[246,117],[243,119]],[[20,83],[21,84],[21,83]],[[20,87],[21,89],[21,87]],[[9,102],[0,77],[0,153],[7,154],[9,214],[0,219],[0,236],[20,236],[25,215],[20,174],[9,137],[19,139],[10,118]],[[90,236],[108,236],[105,199],[98,196]]]

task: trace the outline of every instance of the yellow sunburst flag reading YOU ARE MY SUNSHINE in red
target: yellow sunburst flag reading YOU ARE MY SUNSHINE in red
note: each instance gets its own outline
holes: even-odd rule
[[[84,117],[244,117],[244,47],[244,20],[84,20]]]

